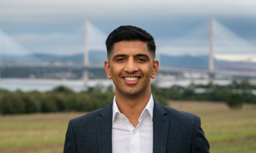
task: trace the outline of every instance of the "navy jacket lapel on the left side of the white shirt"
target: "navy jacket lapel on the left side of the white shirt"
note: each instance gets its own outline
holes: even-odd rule
[[[112,106],[102,109],[101,117],[97,118],[97,138],[100,153],[112,153]]]

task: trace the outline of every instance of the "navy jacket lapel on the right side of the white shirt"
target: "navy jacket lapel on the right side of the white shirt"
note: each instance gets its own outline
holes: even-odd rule
[[[154,101],[153,109],[153,153],[165,153],[168,137],[169,117],[164,116],[163,106]]]

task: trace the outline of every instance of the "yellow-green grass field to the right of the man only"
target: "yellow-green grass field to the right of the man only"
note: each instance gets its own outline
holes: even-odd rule
[[[170,102],[171,107],[197,114],[211,153],[256,153],[256,105],[230,110],[224,103]]]

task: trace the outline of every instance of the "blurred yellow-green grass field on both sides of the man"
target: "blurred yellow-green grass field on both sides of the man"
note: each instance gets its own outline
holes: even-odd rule
[[[230,110],[223,103],[170,102],[201,117],[211,153],[256,153],[256,105]],[[0,153],[61,153],[69,119],[84,113],[0,116]]]

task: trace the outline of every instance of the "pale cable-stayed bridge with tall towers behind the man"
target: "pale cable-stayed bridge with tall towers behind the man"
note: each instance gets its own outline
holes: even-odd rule
[[[90,26],[92,26],[88,21],[85,22],[85,52],[84,52],[84,63],[83,64],[76,64],[76,65],[68,65],[68,64],[5,64],[5,65],[0,65],[0,68],[25,68],[28,71],[31,72],[55,72],[55,71],[82,71],[83,72],[83,78],[84,78],[84,84],[87,85],[88,83],[88,79],[89,79],[89,74],[88,71],[90,70],[103,70],[103,64],[102,65],[97,65],[97,64],[92,64],[89,61],[89,47],[90,47],[90,38],[89,35],[93,34],[93,32],[90,33]],[[216,26],[218,27],[218,29],[216,29]],[[256,78],[256,71],[255,70],[250,70],[250,69],[240,69],[240,70],[218,70],[218,68],[216,69],[215,64],[214,64],[214,58],[219,58],[219,59],[224,59],[227,58],[228,55],[225,54],[225,56],[220,55],[220,54],[216,54],[216,51],[218,53],[220,53],[219,49],[223,49],[223,42],[227,43],[227,44],[231,44],[230,41],[228,40],[230,37],[235,39],[234,42],[236,42],[236,44],[232,44],[233,46],[231,46],[231,48],[229,48],[230,50],[232,50],[235,53],[240,53],[242,51],[244,51],[244,49],[249,48],[249,50],[251,50],[251,52],[246,52],[246,53],[254,53],[254,55],[252,56],[244,56],[245,59],[248,59],[249,62],[253,62],[254,58],[256,57],[255,51],[256,49],[251,46],[250,44],[248,44],[247,42],[245,42],[243,39],[241,39],[239,36],[235,35],[234,33],[232,33],[230,30],[227,30],[225,27],[223,27],[222,25],[220,25],[220,23],[216,22],[213,18],[211,18],[211,22],[210,25],[204,28],[208,28],[210,27],[209,30],[209,40],[205,39],[206,42],[208,42],[208,46],[207,46],[207,50],[209,50],[209,69],[197,69],[197,68],[177,68],[177,67],[166,67],[166,66],[160,66],[159,68],[159,72],[184,72],[184,73],[200,73],[200,74],[206,74],[209,75],[211,79],[213,79],[213,77],[215,75],[226,75],[226,76],[234,76],[234,77],[243,77],[243,78]],[[95,30],[95,27],[94,27]],[[219,30],[219,31],[218,31]],[[203,32],[202,32],[203,31]],[[201,33],[199,33],[201,32]],[[102,34],[101,32],[98,32],[96,29],[96,32],[94,31],[94,33],[100,33],[99,35],[102,35],[102,37],[105,37],[104,34]],[[204,32],[204,30],[202,30],[201,28],[194,30],[193,32],[191,32],[192,34],[189,34],[188,36],[186,36],[185,39],[187,39],[187,37],[189,37],[190,39],[194,39],[195,35],[204,35],[206,32]],[[217,33],[217,34],[216,34]],[[0,33],[1,34],[1,33]],[[218,36],[218,34],[221,34],[221,36],[227,36],[225,37],[224,41],[216,41],[215,37]],[[1,36],[1,35],[0,35]],[[97,40],[100,39],[101,41],[103,41],[103,39],[97,37]],[[218,36],[219,37],[219,36]],[[94,40],[96,41],[96,40]],[[5,42],[5,41],[3,41]],[[174,44],[180,44],[180,42],[183,42],[182,39],[177,39],[176,42],[174,42]],[[239,42],[239,43],[237,43]],[[218,44],[218,45],[216,45]],[[240,48],[241,50],[239,50],[239,46],[237,47],[237,45],[241,45],[242,48]],[[3,44],[1,45],[1,37],[0,37],[0,49],[3,48]],[[13,46],[13,45],[11,45]],[[16,45],[17,46],[17,45]],[[97,45],[96,45],[97,46]],[[168,49],[164,49],[166,48],[166,46],[162,47],[161,45],[159,45],[160,47],[158,48],[158,53],[170,53],[170,52],[177,52],[175,51],[175,47],[171,46]],[[218,47],[217,47],[218,46]],[[225,44],[224,44],[225,46]],[[17,46],[15,49],[19,49],[20,47]],[[174,48],[174,49],[173,49]],[[12,49],[12,50],[15,50]],[[169,49],[172,49],[171,51]],[[188,47],[187,49],[188,51],[190,50],[190,48]],[[203,49],[204,50],[204,49]],[[226,49],[228,50],[228,49]],[[205,51],[205,50],[204,50]],[[192,51],[191,51],[192,52]],[[231,53],[232,54],[232,53]],[[157,56],[157,55],[156,55]],[[239,58],[241,58],[242,56],[237,56]],[[160,59],[161,60],[161,59]]]

